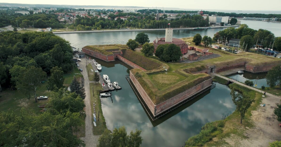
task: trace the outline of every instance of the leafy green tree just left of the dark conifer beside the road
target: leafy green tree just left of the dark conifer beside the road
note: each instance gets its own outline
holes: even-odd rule
[[[53,91],[54,88],[62,88],[64,86],[64,72],[61,67],[55,66],[51,69],[51,76],[48,79],[48,89]]]

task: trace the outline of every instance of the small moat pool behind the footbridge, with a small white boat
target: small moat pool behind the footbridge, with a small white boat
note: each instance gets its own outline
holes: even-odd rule
[[[266,84],[266,73],[252,74],[250,72],[244,72],[243,74],[234,73],[231,75],[227,75],[227,77],[237,79],[240,82],[245,82],[246,80],[253,81],[257,84],[257,88],[261,88],[262,86],[269,87]],[[255,85],[254,84],[254,85]]]

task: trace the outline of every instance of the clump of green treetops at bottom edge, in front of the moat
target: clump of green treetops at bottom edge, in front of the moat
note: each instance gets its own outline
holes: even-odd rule
[[[143,140],[140,133],[141,131],[136,129],[135,133],[131,131],[130,135],[127,135],[125,127],[120,127],[119,129],[115,128],[113,132],[106,129],[99,138],[98,147],[140,147]]]

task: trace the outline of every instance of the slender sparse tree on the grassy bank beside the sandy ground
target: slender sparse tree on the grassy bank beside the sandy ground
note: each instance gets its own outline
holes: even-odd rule
[[[230,95],[232,97],[233,103],[236,105],[237,112],[240,113],[240,123],[242,123],[242,119],[245,116],[245,113],[248,111],[248,108],[251,106],[252,102],[254,102],[254,99],[250,99],[249,97],[246,97],[245,95],[242,95],[241,93],[237,93],[233,89],[230,92]]]

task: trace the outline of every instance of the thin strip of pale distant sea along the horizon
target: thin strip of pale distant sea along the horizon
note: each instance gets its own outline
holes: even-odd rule
[[[78,9],[78,8],[75,8]],[[83,8],[82,8],[83,9]],[[84,9],[103,9],[103,8],[84,8]],[[107,9],[115,9],[115,10],[130,10],[133,11],[134,8],[105,8]],[[137,10],[146,9],[146,8],[137,8]],[[149,9],[156,9],[156,7],[149,7]],[[162,10],[163,8],[157,8]],[[201,11],[201,9],[182,9],[182,8],[164,8],[164,10],[183,10],[183,11]],[[202,9],[203,11],[210,11],[210,12],[225,12],[225,13],[247,13],[247,14],[253,14],[253,13],[260,13],[260,14],[281,14],[281,11],[262,11],[262,10],[215,10],[215,9]]]

